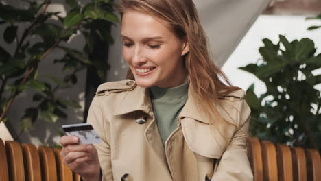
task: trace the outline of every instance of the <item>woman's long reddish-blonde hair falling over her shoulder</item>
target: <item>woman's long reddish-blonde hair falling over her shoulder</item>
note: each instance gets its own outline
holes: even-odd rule
[[[185,55],[185,69],[189,75],[189,88],[201,112],[224,121],[215,109],[219,97],[224,97],[238,87],[231,86],[226,75],[213,63],[209,54],[207,37],[200,24],[198,12],[192,0],[122,0],[117,10],[123,16],[126,10],[136,10],[155,16],[168,23],[178,38],[189,43]],[[127,78],[134,80],[129,69]],[[225,83],[224,83],[225,82]],[[214,119],[212,119],[214,120]],[[226,122],[226,121],[224,121]],[[222,123],[222,122],[221,122]]]

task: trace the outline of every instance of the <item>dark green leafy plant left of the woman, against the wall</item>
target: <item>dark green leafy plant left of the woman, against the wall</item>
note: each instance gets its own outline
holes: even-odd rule
[[[38,119],[56,123],[58,118],[67,118],[67,108],[80,108],[77,101],[56,94],[58,90],[76,84],[79,71],[91,68],[105,79],[109,68],[106,60],[93,61],[88,55],[93,52],[93,37],[112,43],[108,27],[119,19],[109,0],[92,0],[84,5],[76,0],[66,0],[64,8],[70,10],[65,17],[60,16],[60,12],[47,12],[49,0],[21,3],[26,8],[0,3],[0,24],[5,26],[3,40],[15,47],[14,53],[0,47],[0,121],[14,121],[8,120],[6,115],[12,102],[19,94],[32,89],[32,101],[36,106],[21,110],[25,112],[21,118],[23,132]],[[82,34],[86,39],[82,51],[69,47],[68,41],[75,34]],[[40,62],[48,61],[46,56],[53,49],[64,51],[63,58],[53,61],[53,64],[62,65],[61,72],[38,75]]]

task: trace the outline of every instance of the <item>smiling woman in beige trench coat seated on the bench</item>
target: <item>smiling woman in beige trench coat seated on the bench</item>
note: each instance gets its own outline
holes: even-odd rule
[[[102,143],[63,136],[83,180],[252,180],[250,108],[213,64],[192,0],[123,0],[128,79],[97,89],[88,123]]]

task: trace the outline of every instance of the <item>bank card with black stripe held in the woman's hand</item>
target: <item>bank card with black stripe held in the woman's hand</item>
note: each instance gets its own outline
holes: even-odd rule
[[[67,136],[77,136],[79,144],[86,145],[102,142],[93,126],[88,123],[62,125],[62,129]]]

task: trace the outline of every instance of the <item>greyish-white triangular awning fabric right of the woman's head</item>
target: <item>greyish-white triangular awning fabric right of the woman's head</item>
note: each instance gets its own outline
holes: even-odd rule
[[[194,0],[194,3],[215,63],[222,67],[270,0]]]

